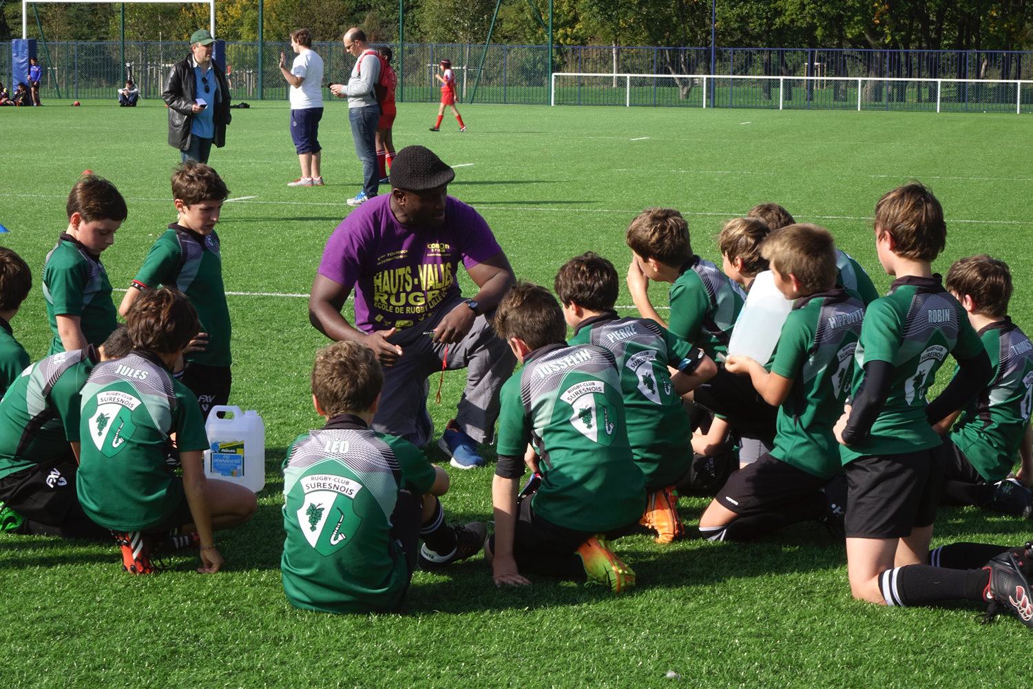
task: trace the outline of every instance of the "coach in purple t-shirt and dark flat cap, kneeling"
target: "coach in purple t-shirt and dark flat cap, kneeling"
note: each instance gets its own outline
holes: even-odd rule
[[[456,418],[438,444],[452,466],[469,469],[484,463],[476,443],[491,441],[499,388],[515,366],[486,317],[515,277],[484,219],[447,194],[455,177],[429,149],[399,151],[390,193],[352,211],[327,240],[309,319],[332,340],[361,342],[377,353],[384,389],[373,428],[416,445],[434,435],[428,376],[442,363],[466,368]],[[472,299],[460,292],[460,260],[479,287]],[[352,288],[354,325],[341,314]]]

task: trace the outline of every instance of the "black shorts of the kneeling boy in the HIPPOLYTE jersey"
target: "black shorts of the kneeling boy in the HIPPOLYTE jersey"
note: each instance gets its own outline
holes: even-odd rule
[[[778,505],[817,493],[828,480],[764,453],[732,472],[716,500],[740,516],[763,514]]]

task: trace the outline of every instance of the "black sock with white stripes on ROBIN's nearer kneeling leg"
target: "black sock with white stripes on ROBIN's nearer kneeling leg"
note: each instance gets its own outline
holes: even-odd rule
[[[944,569],[930,565],[895,567],[879,574],[887,605],[929,605],[944,600],[982,600],[990,582],[984,569]]]

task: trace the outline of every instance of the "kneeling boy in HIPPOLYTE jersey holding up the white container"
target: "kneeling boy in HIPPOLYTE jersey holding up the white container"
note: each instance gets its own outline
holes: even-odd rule
[[[779,405],[773,448],[731,474],[699,518],[709,540],[753,538],[795,522],[842,520],[840,486],[826,511],[822,492],[843,473],[833,426],[850,389],[865,305],[836,284],[833,236],[816,225],[789,225],[761,245],[775,286],[793,310],[782,325],[771,371],[749,356],[729,356],[730,373],[747,375]],[[841,481],[842,479],[840,479]],[[841,525],[839,525],[841,527]]]

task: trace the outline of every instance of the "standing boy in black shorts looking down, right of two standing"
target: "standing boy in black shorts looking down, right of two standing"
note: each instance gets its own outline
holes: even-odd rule
[[[159,285],[181,289],[197,310],[200,332],[184,356],[183,384],[197,397],[202,417],[229,401],[231,327],[222,285],[222,253],[215,224],[229,195],[214,169],[188,160],[173,173],[178,219],[151,246],[136,277],[122,297],[126,316],[144,293]]]

